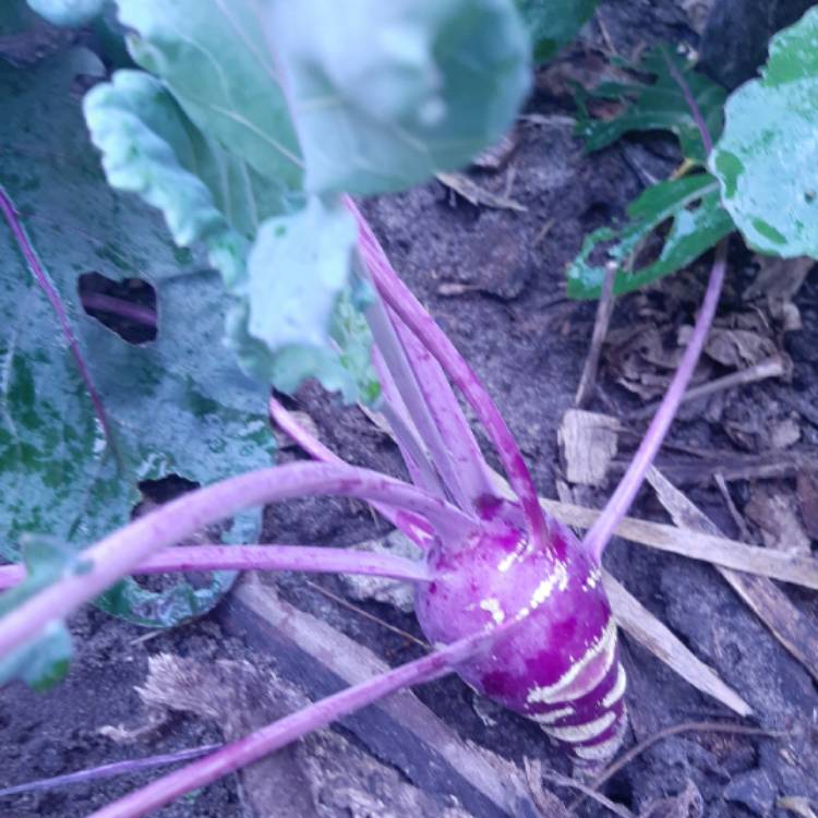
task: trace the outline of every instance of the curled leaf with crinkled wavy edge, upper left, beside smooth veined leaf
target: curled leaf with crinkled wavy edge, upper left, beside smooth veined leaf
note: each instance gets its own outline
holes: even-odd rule
[[[110,184],[158,207],[177,244],[203,244],[228,285],[245,275],[261,222],[298,202],[203,134],[149,74],[118,71],[83,108]]]

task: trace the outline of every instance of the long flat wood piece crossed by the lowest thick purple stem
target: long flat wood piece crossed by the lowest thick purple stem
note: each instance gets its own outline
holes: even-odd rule
[[[286,678],[315,697],[372,678],[389,666],[322,619],[281,600],[264,578],[245,576],[221,609],[222,627],[276,657]],[[400,690],[344,721],[370,749],[422,790],[452,793],[478,815],[537,815],[522,772],[464,743],[410,690]]]

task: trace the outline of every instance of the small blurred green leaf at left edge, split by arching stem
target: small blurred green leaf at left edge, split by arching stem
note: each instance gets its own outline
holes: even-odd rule
[[[23,543],[25,579],[0,594],[0,616],[21,605],[35,593],[67,574],[77,574],[83,565],[59,540],[27,537]],[[43,633],[0,659],[0,687],[20,678],[36,690],[47,690],[68,672],[72,655],[71,636],[62,622],[49,623]]]

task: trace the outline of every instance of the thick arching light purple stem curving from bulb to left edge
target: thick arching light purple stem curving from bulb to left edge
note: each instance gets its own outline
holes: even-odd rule
[[[304,495],[376,501],[425,517],[457,541],[476,524],[454,506],[400,480],[353,466],[299,462],[258,469],[190,492],[115,531],[79,554],[91,568],[62,577],[0,619],[0,657],[38,636],[55,619],[99,596],[147,556],[252,506]]]

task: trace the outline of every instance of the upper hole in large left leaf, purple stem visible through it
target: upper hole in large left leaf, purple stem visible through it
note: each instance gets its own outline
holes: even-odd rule
[[[83,273],[77,284],[85,313],[129,344],[156,340],[156,290],[142,278],[115,281],[100,273]]]

